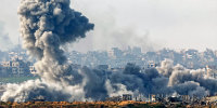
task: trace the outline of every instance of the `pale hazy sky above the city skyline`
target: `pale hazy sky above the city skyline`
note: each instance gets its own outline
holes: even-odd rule
[[[0,24],[17,44],[20,0],[0,1]],[[72,0],[71,5],[95,28],[68,50],[217,50],[217,0]]]

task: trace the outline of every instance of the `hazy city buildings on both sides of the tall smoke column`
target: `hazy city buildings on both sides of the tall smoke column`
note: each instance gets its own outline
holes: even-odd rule
[[[67,52],[68,62],[74,65],[87,66],[90,68],[104,68],[116,71],[123,69],[128,63],[133,63],[141,68],[156,67],[165,58],[174,60],[174,65],[180,64],[189,69],[206,67],[207,75],[217,78],[217,51],[196,50],[174,51],[163,49],[156,52],[142,53],[141,48],[128,48],[120,50],[113,48],[108,51],[89,51],[80,53],[77,51]],[[28,76],[36,75],[25,51],[0,52],[0,75],[2,76]]]

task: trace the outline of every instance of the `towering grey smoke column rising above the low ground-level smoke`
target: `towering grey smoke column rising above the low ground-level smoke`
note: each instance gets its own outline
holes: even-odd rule
[[[69,0],[23,0],[18,10],[24,48],[37,56],[36,68],[44,80],[66,80],[61,45],[85,38],[93,29],[87,17],[69,8]],[[61,77],[62,76],[62,77]],[[63,78],[63,79],[60,79]]]

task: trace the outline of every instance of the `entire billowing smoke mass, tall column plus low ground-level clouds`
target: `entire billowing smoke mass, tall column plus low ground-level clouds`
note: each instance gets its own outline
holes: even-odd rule
[[[69,65],[62,45],[85,38],[93,29],[88,18],[69,8],[69,0],[22,0],[18,10],[24,48],[37,56],[40,79],[0,86],[1,100],[26,102],[38,96],[47,100],[98,100],[123,93],[197,95],[215,94],[217,80],[205,70],[189,70],[171,60],[143,70],[127,64],[108,71]]]

